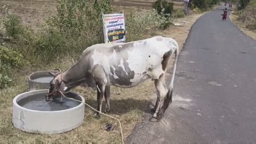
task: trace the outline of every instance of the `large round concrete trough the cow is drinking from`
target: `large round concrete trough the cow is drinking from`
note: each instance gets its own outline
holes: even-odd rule
[[[82,124],[85,117],[83,103],[60,97],[45,101],[48,90],[28,91],[13,99],[13,125],[29,133],[57,134]],[[67,97],[85,102],[80,95],[69,92]]]

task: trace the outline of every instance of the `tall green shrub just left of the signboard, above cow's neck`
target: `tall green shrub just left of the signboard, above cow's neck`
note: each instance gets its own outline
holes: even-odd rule
[[[82,52],[87,46],[101,43],[103,21],[101,14],[113,12],[110,1],[59,0],[57,14],[47,19],[35,43],[37,53],[50,61],[63,54]]]

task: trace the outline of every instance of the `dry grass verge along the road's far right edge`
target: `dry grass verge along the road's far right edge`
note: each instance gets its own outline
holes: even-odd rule
[[[232,11],[229,18],[235,25],[237,25],[237,27],[239,27],[239,29],[243,31],[243,33],[249,35],[256,40],[256,30],[253,31],[250,29],[246,29],[246,23],[239,21],[239,15],[237,10]]]

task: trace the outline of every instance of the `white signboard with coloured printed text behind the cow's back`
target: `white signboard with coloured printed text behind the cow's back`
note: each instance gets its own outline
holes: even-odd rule
[[[125,15],[102,14],[105,43],[125,42]]]

